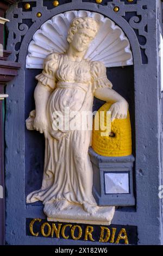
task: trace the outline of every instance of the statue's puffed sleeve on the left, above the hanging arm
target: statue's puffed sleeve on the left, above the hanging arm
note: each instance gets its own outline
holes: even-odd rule
[[[49,54],[44,60],[42,73],[35,77],[37,81],[49,90],[55,89],[55,71],[58,66],[58,58],[59,53]]]

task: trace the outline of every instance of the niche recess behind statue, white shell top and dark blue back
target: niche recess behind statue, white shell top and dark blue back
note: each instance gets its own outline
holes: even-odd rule
[[[133,53],[127,34],[112,19],[92,11],[67,11],[53,16],[40,24],[33,34],[30,33],[30,42],[26,45],[26,56],[23,56],[25,69],[25,118],[28,117],[34,106],[35,76],[42,71],[43,59],[51,52],[66,52],[68,43],[67,31],[71,21],[76,16],[89,16],[100,24],[96,40],[92,41],[85,59],[101,60],[107,68],[107,76],[113,88],[129,102],[131,125],[133,132],[133,154],[135,155],[135,107],[134,107],[134,66]],[[63,32],[62,27],[63,26]],[[32,28],[31,28],[32,29]],[[29,32],[28,32],[29,33]],[[52,38],[54,36],[54,38]],[[108,40],[110,40],[108,42]],[[22,42],[23,44],[23,42]],[[110,47],[110,45],[112,47]],[[22,48],[23,46],[21,46]],[[20,49],[21,54],[21,49]],[[25,54],[24,54],[25,55]],[[110,56],[112,62],[110,62]],[[95,98],[93,110],[103,105],[103,101]],[[44,159],[44,138],[38,132],[26,134],[26,194],[41,186]],[[36,150],[37,149],[37,150]],[[41,171],[40,171],[41,170]],[[37,203],[39,204],[39,203]]]

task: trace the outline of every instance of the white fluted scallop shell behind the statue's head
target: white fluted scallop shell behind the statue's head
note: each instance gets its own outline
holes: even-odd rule
[[[75,17],[92,17],[100,26],[84,59],[102,61],[106,67],[133,65],[129,40],[120,27],[101,14],[72,10],[54,16],[35,32],[28,47],[26,68],[43,69],[43,60],[48,54],[66,52],[68,28]]]

